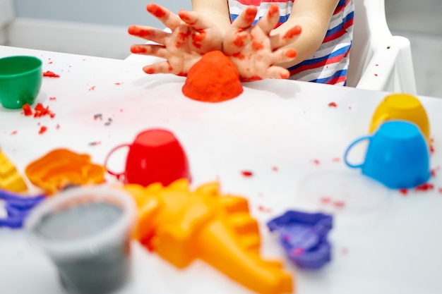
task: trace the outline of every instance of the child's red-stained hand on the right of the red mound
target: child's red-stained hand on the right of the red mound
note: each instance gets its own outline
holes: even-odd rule
[[[301,33],[301,27],[292,27],[284,36],[270,36],[280,17],[277,5],[272,4],[268,13],[252,26],[257,11],[256,6],[249,6],[234,20],[225,33],[224,53],[235,63],[244,82],[288,78],[289,71],[274,64],[297,56],[295,49],[281,47],[293,42]]]

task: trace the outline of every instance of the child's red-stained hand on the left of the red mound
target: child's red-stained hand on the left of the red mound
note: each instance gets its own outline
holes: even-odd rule
[[[179,17],[157,4],[148,4],[149,13],[158,18],[172,32],[154,27],[131,25],[129,34],[157,44],[136,44],[131,52],[161,57],[166,61],[143,68],[145,73],[174,73],[187,75],[189,69],[206,52],[222,50],[222,32],[193,11],[180,11]]]

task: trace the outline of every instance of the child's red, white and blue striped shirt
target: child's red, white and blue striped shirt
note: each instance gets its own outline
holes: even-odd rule
[[[267,13],[270,4],[280,8],[280,20],[276,27],[285,23],[296,0],[228,0],[230,19],[233,21],[246,6],[258,6],[254,24]],[[309,58],[288,68],[290,79],[345,85],[349,53],[353,38],[354,0],[340,0],[330,20],[321,47]]]

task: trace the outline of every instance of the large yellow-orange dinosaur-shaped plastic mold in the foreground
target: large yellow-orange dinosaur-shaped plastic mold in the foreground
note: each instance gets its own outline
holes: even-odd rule
[[[292,293],[281,262],[259,256],[258,224],[243,197],[220,195],[217,183],[191,191],[186,179],[124,188],[139,208],[136,238],[168,262],[184,268],[198,258],[258,293]]]

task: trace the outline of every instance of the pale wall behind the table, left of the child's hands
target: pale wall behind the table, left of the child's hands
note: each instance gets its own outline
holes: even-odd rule
[[[128,34],[129,25],[164,28],[142,0],[0,0],[13,1],[16,18],[6,26],[13,47],[125,59],[132,44],[145,40]],[[157,0],[177,13],[191,0]],[[0,43],[1,44],[1,43]]]

